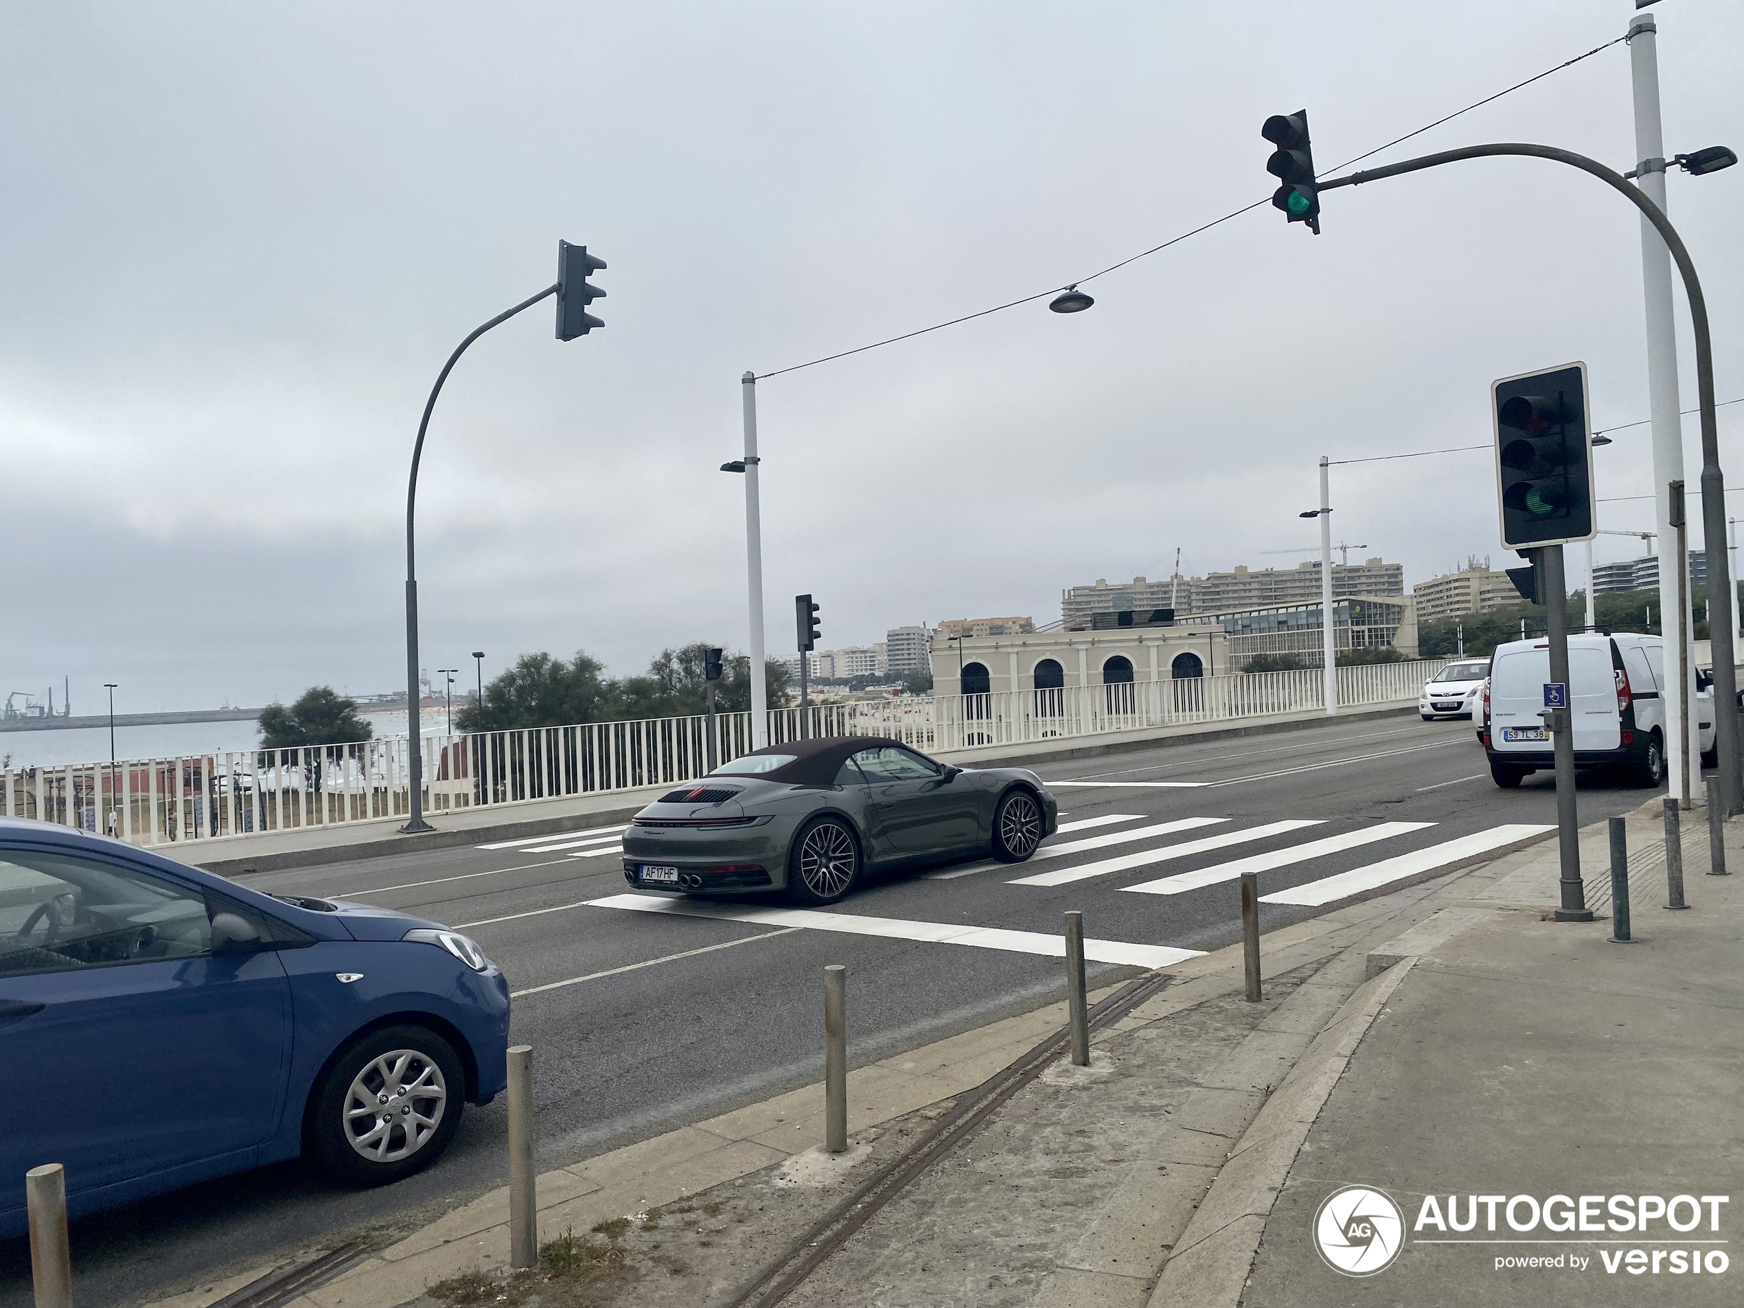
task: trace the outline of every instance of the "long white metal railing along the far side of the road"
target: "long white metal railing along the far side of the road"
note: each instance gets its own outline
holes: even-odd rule
[[[1448,659],[1338,670],[1339,705],[1414,701]],[[928,752],[1024,745],[1195,722],[1311,712],[1318,668],[1193,680],[1066,685],[968,696],[813,705],[811,736],[891,736]],[[797,708],[769,712],[771,741],[799,736]],[[495,807],[678,785],[750,750],[750,713],[589,722],[424,736],[424,809]],[[0,771],[0,813],[162,846],[389,821],[410,809],[412,741],[241,750]]]

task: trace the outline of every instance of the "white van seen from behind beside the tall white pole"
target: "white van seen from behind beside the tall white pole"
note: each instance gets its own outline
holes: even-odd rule
[[[1666,644],[1634,633],[1568,638],[1570,726],[1577,767],[1620,767],[1636,785],[1657,787],[1666,776]],[[1550,680],[1547,640],[1510,640],[1489,656],[1484,729],[1479,739],[1498,787],[1550,769],[1550,736],[1543,719],[1543,687]],[[1714,692],[1697,677],[1697,736],[1702,762],[1713,766]]]

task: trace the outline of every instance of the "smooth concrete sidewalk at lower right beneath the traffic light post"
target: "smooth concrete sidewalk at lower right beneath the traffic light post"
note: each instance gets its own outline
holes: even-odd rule
[[[1549,919],[1557,898],[1550,844],[1444,909],[1458,917],[1441,938],[1430,926],[1420,945],[1406,940],[1393,950],[1414,964],[1308,1132],[1245,1284],[1179,1298],[1165,1292],[1165,1271],[1153,1305],[1744,1299],[1735,1266],[1744,1224],[1744,877],[1706,875],[1704,816],[1685,814],[1693,825],[1683,858],[1686,912],[1664,907],[1657,800],[1631,818],[1634,944],[1608,940],[1608,879],[1599,884],[1608,862],[1603,827],[1594,827],[1582,870],[1601,921]],[[1741,837],[1744,823],[1730,823],[1734,872],[1744,870]],[[1317,1233],[1338,1243],[1338,1223],[1322,1226],[1317,1212],[1346,1186],[1383,1191],[1404,1217],[1393,1236],[1383,1205],[1359,1210],[1381,1217],[1373,1238],[1399,1240],[1392,1261],[1378,1249],[1359,1268],[1380,1268],[1367,1277],[1339,1275],[1317,1249]],[[1479,1203],[1475,1226],[1472,1196],[1500,1196]],[[1552,1196],[1566,1198],[1547,1203]],[[1584,1196],[1599,1196],[1585,1221]],[[1618,1205],[1611,1196],[1627,1198]],[[1359,1198],[1350,1191],[1329,1209],[1343,1216]],[[1674,1203],[1669,1217],[1657,1200]],[[1648,1214],[1645,1231],[1622,1216],[1634,1212]],[[1568,1224],[1575,1230],[1557,1230]],[[1704,1264],[1692,1271],[1697,1254]]]

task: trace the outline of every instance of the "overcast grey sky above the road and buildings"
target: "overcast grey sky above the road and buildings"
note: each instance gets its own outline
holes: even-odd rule
[[[1744,7],[1666,0],[1666,145],[1744,146]],[[638,671],[746,642],[739,373],[1032,295],[1270,194],[1268,113],[1322,173],[1622,35],[1533,3],[0,2],[0,692],[119,708],[405,684],[424,663]],[[1381,160],[1528,140],[1634,164],[1627,47]],[[1744,169],[1672,174],[1720,398],[1744,394]],[[1087,286],[759,385],[769,649],[1059,616],[1064,586],[1294,565],[1315,464],[1479,445],[1488,384],[1591,366],[1646,417],[1638,220],[1481,160],[1264,206]],[[1683,406],[1693,351],[1678,303]],[[1598,453],[1650,494],[1648,429]],[[1744,405],[1721,410],[1744,485]],[[1699,433],[1686,420],[1688,480]],[[1336,534],[1407,582],[1503,560],[1482,452],[1334,469]],[[1744,497],[1741,497],[1744,499]],[[1652,527],[1652,501],[1603,525]],[[1598,556],[1636,542],[1601,537]],[[1355,556],[1355,555],[1353,555]],[[1577,560],[1571,560],[1571,576]],[[59,694],[56,696],[59,698]]]

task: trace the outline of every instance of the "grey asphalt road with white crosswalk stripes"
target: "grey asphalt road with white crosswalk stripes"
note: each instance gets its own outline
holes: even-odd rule
[[[1055,790],[1073,830],[1022,867],[959,863],[867,884],[828,910],[856,919],[851,933],[799,919],[635,910],[651,900],[664,909],[698,902],[631,896],[610,832],[586,823],[570,837],[586,844],[542,837],[274,872],[248,884],[392,905],[474,937],[518,992],[513,1038],[534,1046],[539,1162],[553,1167],[821,1080],[828,963],[848,966],[849,1055],[872,1060],[1062,994],[1060,961],[1022,947],[1034,944],[1025,933],[1057,937],[1066,909],[1083,912],[1092,956],[1130,954],[1121,945],[1216,949],[1238,937],[1236,881],[1226,879],[1235,860],[1273,855],[1261,895],[1311,900],[1339,874],[1404,875],[1510,834],[1496,828],[1556,821],[1547,774],[1498,790],[1468,722],[1416,717],[1038,771],[1050,783],[1078,783]],[[1596,821],[1645,799],[1622,781],[1584,778],[1580,818]],[[1168,823],[1182,825],[1146,830]],[[1046,856],[1085,841],[1097,844]],[[1163,849],[1172,853],[1158,858]],[[1205,877],[1214,867],[1226,870]],[[1073,872],[1080,877],[1060,877]],[[1193,888],[1132,893],[1144,882]],[[591,903],[607,898],[633,907]],[[1273,930],[1327,907],[1263,902],[1261,921]],[[940,926],[992,931],[944,944],[912,938],[937,937]],[[1092,964],[1093,980],[1134,971]],[[469,1109],[443,1162],[389,1189],[337,1189],[286,1163],[80,1221],[78,1299],[133,1303],[276,1249],[434,1217],[502,1182],[506,1137],[499,1102]],[[795,1149],[809,1144],[795,1141]],[[28,1268],[21,1240],[0,1243],[0,1308],[30,1303]]]

